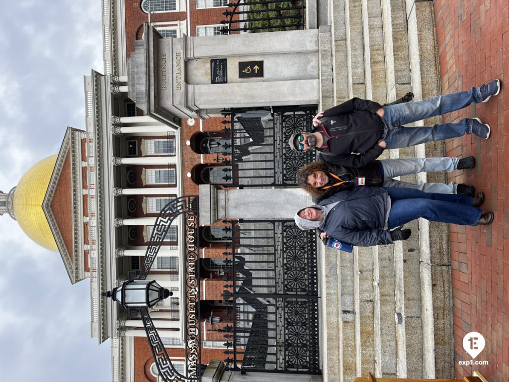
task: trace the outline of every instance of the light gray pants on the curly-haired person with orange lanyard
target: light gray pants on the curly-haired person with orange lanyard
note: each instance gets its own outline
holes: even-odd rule
[[[458,166],[459,158],[401,158],[381,159],[384,179],[383,187],[406,187],[420,189],[425,193],[456,194],[458,183],[408,183],[392,179],[401,175],[417,174],[421,171],[447,171],[453,172]]]

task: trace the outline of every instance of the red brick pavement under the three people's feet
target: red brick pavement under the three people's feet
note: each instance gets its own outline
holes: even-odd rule
[[[495,212],[492,226],[451,225],[456,377],[479,370],[490,382],[509,381],[509,12],[507,0],[436,0],[442,93],[466,90],[499,78],[497,97],[451,113],[446,121],[479,117],[492,128],[489,140],[464,136],[446,142],[447,155],[474,155],[473,170],[457,172],[457,181],[475,185]],[[505,253],[504,253],[505,252]],[[466,333],[486,338],[475,361],[463,349]]]

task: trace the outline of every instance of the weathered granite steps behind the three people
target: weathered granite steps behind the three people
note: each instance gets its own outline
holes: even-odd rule
[[[322,59],[322,110],[353,96],[381,104],[407,92],[415,100],[440,92],[433,2],[330,0],[318,3],[322,31],[331,25],[333,87]],[[427,121],[437,123],[439,118]],[[385,157],[442,156],[443,143],[388,150]],[[383,157],[382,157],[383,158]],[[426,174],[403,177],[425,181]],[[428,175],[444,181],[444,174]],[[325,249],[321,263],[324,379],[356,376],[447,378],[453,375],[448,227],[412,222],[404,242]],[[395,314],[401,313],[401,324]]]

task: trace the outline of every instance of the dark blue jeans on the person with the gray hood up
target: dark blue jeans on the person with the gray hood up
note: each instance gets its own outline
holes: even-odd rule
[[[482,213],[472,198],[455,194],[428,194],[418,189],[383,187],[389,194],[389,229],[423,217],[432,222],[473,226]]]

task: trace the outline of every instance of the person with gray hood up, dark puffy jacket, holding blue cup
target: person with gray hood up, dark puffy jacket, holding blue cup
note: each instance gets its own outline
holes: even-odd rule
[[[302,230],[319,229],[336,240],[358,247],[392,244],[410,237],[409,229],[394,229],[423,217],[434,222],[489,225],[493,212],[482,213],[484,202],[465,195],[430,194],[412,188],[354,187],[295,214]],[[391,229],[394,229],[391,231]]]

